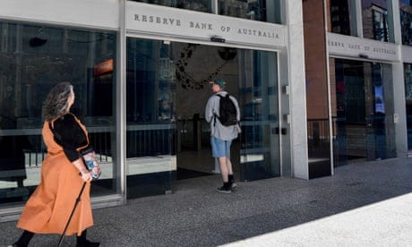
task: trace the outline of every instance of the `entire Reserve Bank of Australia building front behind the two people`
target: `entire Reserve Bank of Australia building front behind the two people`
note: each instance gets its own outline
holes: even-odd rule
[[[216,78],[241,106],[237,180],[407,155],[410,5],[2,1],[0,220],[16,219],[40,182],[41,104],[60,81],[73,83],[73,113],[101,160],[94,209],[219,172],[203,117]]]

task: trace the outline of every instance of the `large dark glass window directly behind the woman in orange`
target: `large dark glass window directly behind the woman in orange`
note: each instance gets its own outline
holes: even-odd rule
[[[41,106],[61,81],[73,83],[72,111],[101,160],[92,195],[117,192],[116,34],[1,21],[0,61],[0,207],[27,200],[39,184]]]

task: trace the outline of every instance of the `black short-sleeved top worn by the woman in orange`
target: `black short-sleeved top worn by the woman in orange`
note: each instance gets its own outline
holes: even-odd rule
[[[80,158],[76,149],[87,144],[87,137],[74,116],[72,114],[63,115],[55,120],[53,126],[55,141],[63,147],[64,154],[70,162]]]

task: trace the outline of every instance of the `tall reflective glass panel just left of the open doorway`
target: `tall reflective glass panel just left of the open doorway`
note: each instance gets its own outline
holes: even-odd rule
[[[170,47],[162,41],[127,38],[127,197],[171,190],[176,81]]]

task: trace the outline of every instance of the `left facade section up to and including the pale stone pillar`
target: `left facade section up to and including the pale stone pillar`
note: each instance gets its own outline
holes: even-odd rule
[[[309,178],[302,29],[297,0],[2,1],[1,220],[40,182],[41,105],[60,81],[101,160],[94,209],[219,172],[203,117],[216,78],[242,108],[236,178]]]

